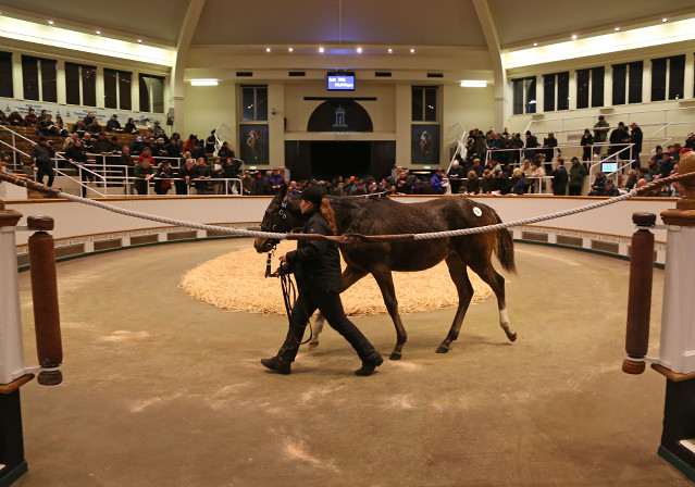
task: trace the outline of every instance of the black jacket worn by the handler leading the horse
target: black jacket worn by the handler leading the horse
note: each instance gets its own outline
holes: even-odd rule
[[[333,235],[328,222],[317,210],[307,214],[302,234]],[[287,252],[289,271],[306,291],[340,292],[340,252],[338,246],[326,240],[300,240],[297,250]]]

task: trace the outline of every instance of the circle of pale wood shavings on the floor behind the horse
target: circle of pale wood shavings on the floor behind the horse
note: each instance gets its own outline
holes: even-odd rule
[[[295,249],[296,244],[282,241],[275,255]],[[280,279],[265,278],[268,254],[248,249],[237,250],[208,261],[188,271],[179,287],[194,298],[228,311],[263,314],[285,314]],[[273,258],[272,270],[278,260]],[[345,262],[342,262],[345,269]],[[446,263],[440,262],[421,272],[394,272],[394,287],[400,313],[417,313],[443,308],[456,308],[458,295]],[[469,278],[474,294],[471,302],[480,302],[493,291],[473,272]],[[386,313],[381,290],[371,275],[353,284],[340,295],[348,316]]]

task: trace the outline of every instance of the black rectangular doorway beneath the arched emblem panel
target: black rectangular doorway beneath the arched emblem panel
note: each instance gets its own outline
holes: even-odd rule
[[[372,142],[312,141],[311,175],[318,179],[335,176],[365,176],[372,166]]]

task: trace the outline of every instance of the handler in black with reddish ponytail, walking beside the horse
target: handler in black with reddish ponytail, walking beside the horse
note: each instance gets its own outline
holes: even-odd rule
[[[302,228],[305,234],[335,235],[335,215],[323,191],[310,186],[301,192],[299,203],[307,220]],[[340,254],[335,242],[325,240],[298,241],[297,250],[282,255],[282,266],[275,272],[295,273],[299,295],[293,307],[287,338],[277,355],[261,359],[261,363],[280,374],[289,374],[291,363],[297,357],[307,322],[319,309],[328,324],[352,346],[362,366],[356,375],[372,375],[384,359],[374,349],[364,335],[350,322],[343,311],[340,301]]]

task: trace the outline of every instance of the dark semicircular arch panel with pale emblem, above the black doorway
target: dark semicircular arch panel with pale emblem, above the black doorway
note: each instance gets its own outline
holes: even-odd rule
[[[313,111],[307,132],[374,132],[367,110],[350,99],[326,100]]]

